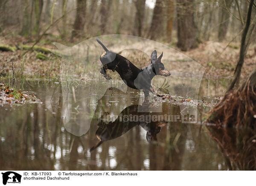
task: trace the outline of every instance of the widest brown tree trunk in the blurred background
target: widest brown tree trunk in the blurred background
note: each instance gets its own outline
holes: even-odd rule
[[[177,0],[177,46],[182,51],[188,51],[198,46],[194,3],[195,0]]]

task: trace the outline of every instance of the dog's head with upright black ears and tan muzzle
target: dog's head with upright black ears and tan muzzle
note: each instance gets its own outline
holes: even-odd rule
[[[171,73],[168,70],[166,70],[163,63],[161,63],[162,57],[163,57],[163,52],[157,58],[157,51],[156,50],[154,50],[151,54],[151,63],[154,65],[156,75],[165,76],[165,77],[170,76]]]

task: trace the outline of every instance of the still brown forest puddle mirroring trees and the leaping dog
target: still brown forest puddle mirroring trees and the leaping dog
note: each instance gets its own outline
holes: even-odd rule
[[[246,162],[244,166],[233,167],[237,161],[234,157],[241,150],[236,140],[230,139],[236,139],[236,131],[230,129],[230,140],[223,144],[225,131],[218,133],[199,124],[201,113],[210,110],[225,91],[225,83],[221,82],[202,82],[207,86],[201,87],[207,88],[199,89],[198,100],[209,105],[188,109],[195,113],[192,123],[181,122],[180,105],[161,102],[158,97],[145,99],[143,93],[132,89],[124,92],[119,81],[94,79],[86,85],[54,81],[21,83],[22,90],[37,93],[43,104],[0,107],[1,169],[252,169],[246,167]],[[113,84],[116,87],[111,88]],[[180,92],[172,95],[191,97],[192,90],[187,87],[180,91],[180,87],[178,82],[172,84],[170,90]],[[160,120],[153,121],[154,116]],[[239,135],[249,140],[253,134],[241,131]],[[246,152],[241,158],[247,162],[253,159]]]

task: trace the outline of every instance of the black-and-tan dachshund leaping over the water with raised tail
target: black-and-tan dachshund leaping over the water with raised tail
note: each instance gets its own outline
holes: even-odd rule
[[[113,72],[116,71],[128,87],[138,90],[143,89],[145,96],[148,96],[149,92],[155,92],[154,88],[151,86],[151,80],[154,76],[160,75],[166,77],[171,75],[171,73],[165,69],[163,63],[161,63],[163,52],[157,58],[157,51],[154,50],[151,54],[151,64],[144,69],[139,69],[122,55],[109,51],[98,38],[96,38],[96,41],[104,49],[99,59],[103,65],[100,73],[102,73],[106,79],[111,79],[107,74],[108,69]]]

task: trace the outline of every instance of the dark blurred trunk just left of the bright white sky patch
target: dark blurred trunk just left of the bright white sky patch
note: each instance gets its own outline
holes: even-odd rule
[[[136,15],[134,21],[134,32],[133,35],[142,36],[142,29],[143,29],[143,20],[144,20],[144,13],[145,13],[145,0],[136,0],[135,8],[136,8]]]

